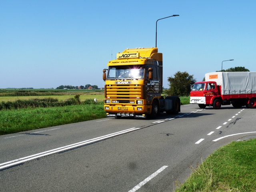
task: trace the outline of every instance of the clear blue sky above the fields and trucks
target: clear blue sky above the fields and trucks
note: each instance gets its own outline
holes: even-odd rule
[[[102,87],[126,48],[163,53],[164,87],[178,71],[256,71],[255,0],[2,0],[0,88]]]

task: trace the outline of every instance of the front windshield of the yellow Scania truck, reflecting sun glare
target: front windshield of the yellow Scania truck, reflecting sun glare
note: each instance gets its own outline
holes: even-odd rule
[[[134,66],[111,66],[108,68],[107,79],[143,79],[144,68]]]

